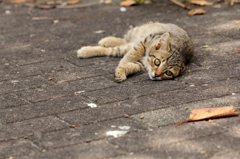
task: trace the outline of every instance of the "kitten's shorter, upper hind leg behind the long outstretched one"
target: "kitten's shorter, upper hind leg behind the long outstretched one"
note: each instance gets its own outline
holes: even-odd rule
[[[98,45],[103,47],[115,47],[123,44],[126,44],[124,39],[113,36],[103,38],[98,42]]]

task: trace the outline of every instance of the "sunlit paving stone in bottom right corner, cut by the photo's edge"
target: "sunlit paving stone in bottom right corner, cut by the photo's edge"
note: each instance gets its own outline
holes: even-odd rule
[[[229,145],[224,143],[226,138],[232,141],[228,142]],[[137,153],[133,152],[126,158],[185,158],[186,156],[190,158],[210,158],[221,151],[229,151],[232,149],[232,145],[237,145],[237,142],[239,142],[239,139],[236,140],[220,133],[194,140],[160,145],[159,147],[142,150]],[[125,158],[125,156],[119,156],[119,158],[123,157]]]

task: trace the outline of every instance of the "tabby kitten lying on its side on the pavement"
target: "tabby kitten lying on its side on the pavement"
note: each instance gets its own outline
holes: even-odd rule
[[[132,28],[124,38],[106,37],[99,46],[77,51],[78,58],[123,57],[115,70],[117,82],[145,69],[152,80],[174,79],[183,73],[192,55],[193,44],[186,31],[158,22]]]

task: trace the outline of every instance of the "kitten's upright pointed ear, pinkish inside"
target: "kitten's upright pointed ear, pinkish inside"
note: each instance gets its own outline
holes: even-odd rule
[[[159,39],[159,42],[156,46],[156,50],[166,50],[166,51],[170,51],[170,34],[167,32],[167,33],[164,33],[160,39]]]

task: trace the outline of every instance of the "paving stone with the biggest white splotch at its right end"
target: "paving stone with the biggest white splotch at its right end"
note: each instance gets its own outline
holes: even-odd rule
[[[75,124],[75,122],[72,121],[71,124]],[[129,129],[122,129],[119,126],[128,126]],[[117,130],[133,132],[141,131],[142,129],[145,128],[141,127],[141,125],[138,125],[131,119],[122,118],[79,127],[77,125],[76,128],[69,127],[69,129],[42,133],[38,136],[29,137],[29,139],[44,149],[56,149],[109,138],[111,136],[106,135],[108,131]]]

